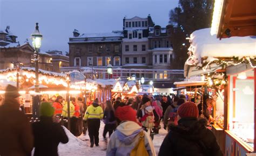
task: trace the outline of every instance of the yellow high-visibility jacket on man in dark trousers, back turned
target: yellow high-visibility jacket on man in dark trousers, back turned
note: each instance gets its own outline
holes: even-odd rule
[[[86,112],[84,114],[84,120],[87,119],[102,119],[103,118],[103,110],[102,107],[93,107],[90,105],[87,107]]]

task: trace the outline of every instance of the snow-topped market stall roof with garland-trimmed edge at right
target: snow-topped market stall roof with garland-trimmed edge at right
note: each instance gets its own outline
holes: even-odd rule
[[[187,65],[194,67],[200,72],[211,72],[207,70],[218,70],[218,66],[225,58],[227,66],[235,65],[232,58],[238,57],[254,59],[256,56],[256,36],[230,37],[219,40],[216,35],[211,35],[210,28],[194,31],[190,36],[190,48],[188,59],[185,64],[184,74],[188,76]],[[239,64],[239,63],[238,63]],[[221,68],[221,67],[220,67]],[[195,71],[197,72],[197,71]],[[194,75],[194,74],[193,74]]]

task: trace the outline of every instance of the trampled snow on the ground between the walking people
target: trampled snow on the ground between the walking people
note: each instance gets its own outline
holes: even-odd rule
[[[82,155],[83,156],[84,155],[104,156],[106,155],[106,151],[102,150],[104,147],[104,143],[102,141],[103,129],[104,129],[104,123],[101,122],[100,129],[99,129],[99,140],[100,140],[99,146],[98,147],[94,146],[93,148],[91,148],[88,131],[86,132],[86,135],[82,134],[80,135],[80,137],[76,138],[65,128],[65,132],[66,134],[68,134],[68,137],[69,137],[69,143],[59,144],[58,146],[59,156],[82,156]],[[159,131],[159,134],[154,135],[153,144],[154,144],[154,147],[156,148],[157,154],[166,133],[167,131],[161,128],[161,130]]]

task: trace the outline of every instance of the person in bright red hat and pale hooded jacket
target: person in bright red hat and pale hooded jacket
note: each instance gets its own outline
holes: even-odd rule
[[[152,140],[136,119],[136,111],[131,106],[118,107],[116,115],[122,122],[110,137],[107,146],[106,156],[130,155],[134,147],[138,146],[140,139],[143,139],[145,152],[149,156],[156,156]],[[140,144],[141,145],[141,144]]]

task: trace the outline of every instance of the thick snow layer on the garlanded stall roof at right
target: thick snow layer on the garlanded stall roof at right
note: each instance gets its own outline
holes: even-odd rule
[[[211,28],[194,31],[190,35],[191,51],[196,59],[202,57],[244,57],[256,56],[256,36],[218,39],[211,36]]]

